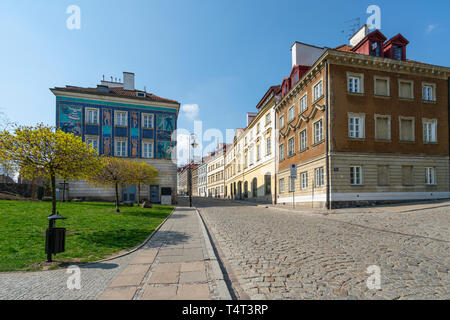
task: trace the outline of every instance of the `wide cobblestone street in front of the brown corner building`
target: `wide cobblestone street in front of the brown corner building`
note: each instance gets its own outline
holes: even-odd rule
[[[252,299],[450,299],[448,206],[322,215],[221,200],[195,205]],[[372,265],[381,270],[380,290],[367,287]]]

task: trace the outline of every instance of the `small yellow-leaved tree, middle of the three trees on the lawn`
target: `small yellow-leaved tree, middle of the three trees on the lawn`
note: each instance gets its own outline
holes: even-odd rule
[[[115,189],[116,212],[119,209],[119,186],[126,184],[130,178],[129,162],[115,157],[101,157],[101,168],[92,175],[89,181],[94,185],[113,187]]]

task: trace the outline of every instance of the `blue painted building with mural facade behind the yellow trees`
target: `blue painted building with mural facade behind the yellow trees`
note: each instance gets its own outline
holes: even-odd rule
[[[145,161],[159,170],[160,182],[141,197],[160,202],[161,194],[176,195],[176,137],[180,104],[134,87],[134,74],[124,81],[101,81],[96,88],[50,89],[56,97],[56,126],[83,138],[99,154]],[[122,200],[135,201],[136,188],[122,191]],[[170,190],[169,190],[170,189]],[[112,190],[85,182],[69,184],[70,198],[111,199]],[[175,199],[173,199],[175,200]]]

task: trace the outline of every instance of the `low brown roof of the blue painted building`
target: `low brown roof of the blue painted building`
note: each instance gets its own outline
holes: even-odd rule
[[[100,90],[98,90],[98,88],[83,88],[83,87],[76,87],[76,86],[55,87],[50,90],[52,90],[52,91],[57,90],[57,91],[63,91],[63,92],[74,92],[74,93],[84,93],[84,94],[95,94],[95,95],[101,95],[101,96],[128,98],[128,99],[136,99],[136,100],[146,100],[146,101],[153,101],[153,102],[180,104],[178,101],[162,98],[162,97],[159,97],[157,95],[154,95],[152,93],[148,93],[145,91],[125,90],[123,88],[109,88],[109,92],[100,91]],[[145,97],[137,97],[136,93],[138,93],[138,92],[145,93]]]

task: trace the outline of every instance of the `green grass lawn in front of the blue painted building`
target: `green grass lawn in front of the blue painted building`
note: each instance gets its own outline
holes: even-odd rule
[[[89,262],[142,243],[173,207],[121,207],[112,203],[58,203],[56,227],[67,229],[66,252],[54,260]],[[0,200],[0,271],[39,270],[46,260],[45,230],[50,202]]]

